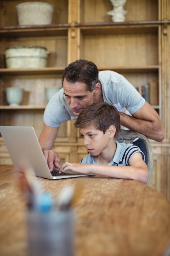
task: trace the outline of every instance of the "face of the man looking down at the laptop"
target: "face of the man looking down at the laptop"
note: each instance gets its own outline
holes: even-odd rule
[[[78,116],[80,112],[94,102],[94,91],[86,91],[86,84],[82,82],[69,83],[64,79],[64,94],[73,114]]]

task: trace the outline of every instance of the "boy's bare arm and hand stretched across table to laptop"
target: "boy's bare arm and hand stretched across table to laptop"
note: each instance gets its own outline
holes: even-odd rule
[[[130,166],[108,166],[95,164],[64,163],[61,172],[71,169],[79,173],[95,173],[119,179],[132,179],[146,183],[149,171],[146,163],[142,160],[141,153],[135,153],[130,158]]]

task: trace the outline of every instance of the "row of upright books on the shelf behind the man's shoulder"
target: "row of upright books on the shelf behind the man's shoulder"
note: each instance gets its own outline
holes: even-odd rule
[[[159,105],[158,81],[151,80],[147,85],[136,87],[141,96],[151,105]]]

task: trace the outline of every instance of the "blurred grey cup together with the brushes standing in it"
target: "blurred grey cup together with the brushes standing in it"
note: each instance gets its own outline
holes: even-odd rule
[[[51,193],[42,192],[33,169],[26,165],[21,168],[24,177],[18,177],[18,183],[28,206],[28,256],[73,256],[73,187],[64,186],[54,202]]]

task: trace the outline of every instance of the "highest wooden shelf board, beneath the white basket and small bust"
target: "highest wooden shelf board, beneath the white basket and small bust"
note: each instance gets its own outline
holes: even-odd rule
[[[167,20],[167,24],[170,20]],[[3,38],[30,37],[30,36],[67,36],[70,27],[79,27],[84,33],[108,34],[114,33],[156,33],[163,20],[131,21],[131,22],[86,22],[73,24],[31,25],[0,27]],[[99,31],[98,31],[99,30]],[[110,32],[109,32],[110,31]]]

